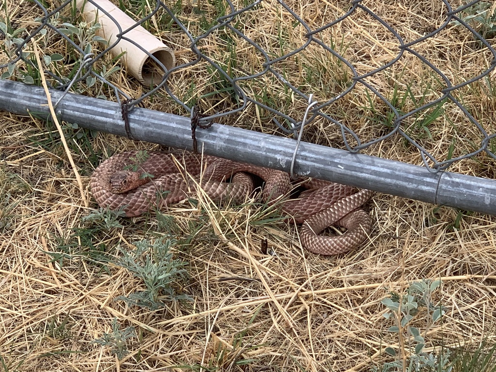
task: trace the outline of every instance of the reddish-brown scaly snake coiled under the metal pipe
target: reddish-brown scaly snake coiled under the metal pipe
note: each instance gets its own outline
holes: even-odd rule
[[[331,255],[357,248],[371,230],[371,218],[360,207],[372,191],[326,181],[308,179],[307,190],[288,198],[295,187],[288,173],[190,152],[137,151],[118,153],[95,170],[90,186],[101,207],[124,208],[127,217],[154,207],[163,208],[190,197],[200,186],[214,201],[243,202],[253,191],[252,178],[264,181],[261,197],[271,205],[282,199],[281,209],[302,224],[300,239],[311,252]],[[227,181],[227,182],[226,182]],[[347,231],[338,236],[319,235],[338,225]]]

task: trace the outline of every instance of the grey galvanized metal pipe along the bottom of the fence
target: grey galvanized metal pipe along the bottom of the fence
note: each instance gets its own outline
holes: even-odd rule
[[[0,81],[0,110],[19,115],[35,112],[48,117],[43,88]],[[62,92],[50,91],[53,102]],[[57,115],[68,123],[125,136],[121,108],[115,102],[66,94]],[[134,108],[129,114],[131,133],[142,141],[192,149],[189,118]],[[198,147],[205,154],[289,172],[296,141],[228,125],[213,124],[196,130]],[[368,188],[433,204],[496,214],[496,181],[450,172],[430,173],[426,168],[302,142],[295,172],[322,180]]]

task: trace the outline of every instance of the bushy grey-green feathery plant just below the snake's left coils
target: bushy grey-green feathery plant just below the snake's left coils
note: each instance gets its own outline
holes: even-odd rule
[[[119,296],[116,300],[125,301],[128,305],[158,310],[168,302],[189,300],[186,294],[178,294],[175,286],[186,279],[187,262],[173,258],[170,248],[175,244],[169,239],[157,239],[150,244],[148,240],[134,243],[133,250],[119,248],[122,253],[116,264],[130,271],[141,279],[146,289]]]

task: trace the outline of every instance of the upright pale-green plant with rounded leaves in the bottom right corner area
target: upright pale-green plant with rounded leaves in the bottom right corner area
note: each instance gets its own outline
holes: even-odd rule
[[[388,309],[383,314],[386,319],[393,320],[394,325],[389,332],[398,334],[399,349],[386,347],[385,352],[396,358],[393,362],[385,363],[382,372],[389,371],[449,371],[449,350],[436,355],[425,353],[426,335],[432,325],[441,320],[445,308],[432,302],[433,292],[441,285],[440,280],[423,280],[412,283],[406,293],[392,292],[389,298],[381,303]],[[419,323],[425,324],[422,331]],[[415,325],[414,325],[415,324]],[[406,365],[405,365],[406,364]],[[377,367],[374,371],[379,371]]]

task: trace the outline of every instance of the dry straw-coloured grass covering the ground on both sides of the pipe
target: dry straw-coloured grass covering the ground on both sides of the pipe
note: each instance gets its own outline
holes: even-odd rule
[[[405,41],[442,23],[437,2],[374,2],[363,4],[397,29]],[[312,28],[342,15],[348,7],[347,1],[294,0],[288,4]],[[34,17],[20,11],[24,5],[6,5],[18,27],[30,27]],[[202,6],[207,15],[215,13],[213,5],[203,1]],[[198,26],[199,16],[191,7],[184,6],[180,16],[183,21],[191,18],[192,29]],[[292,20],[273,1],[261,2],[258,10],[241,18],[245,34],[273,53],[287,53],[295,45],[302,45],[305,31],[301,26],[292,27]],[[194,58],[182,33],[156,30],[153,24],[152,32],[162,33],[176,50],[178,63]],[[278,32],[287,35],[286,45],[279,45]],[[396,55],[395,39],[365,12],[338,23],[320,37],[324,42],[335,41],[336,50],[341,48],[360,73]],[[211,56],[225,56],[228,47],[223,40],[222,32],[215,33],[204,41],[202,50]],[[42,53],[64,53],[61,43],[53,42],[50,48]],[[442,67],[454,82],[474,77],[490,61],[469,35],[457,29],[443,31],[435,40],[428,39],[415,48]],[[263,69],[263,60],[247,43],[238,40],[236,50],[242,57],[236,66],[240,74]],[[111,61],[101,63],[111,65]],[[71,67],[61,68],[67,72]],[[299,59],[278,63],[275,69],[285,71],[289,81],[301,86],[302,91],[315,92],[321,101],[341,91],[346,81],[344,66],[314,47]],[[314,74],[311,79],[309,74]],[[491,78],[494,84],[494,76]],[[206,66],[197,64],[174,74],[170,85],[174,92],[184,93],[193,84],[191,97],[180,97],[198,100],[206,113],[233,107],[227,96],[201,98],[216,89],[213,80]],[[134,97],[144,92],[124,72],[114,74],[112,81]],[[405,55],[393,68],[369,81],[386,97],[390,97],[394,85],[403,94],[401,89],[411,81],[418,82],[411,86],[416,97],[422,96],[426,87],[432,88],[427,100],[439,94],[439,84],[412,55]],[[290,116],[303,116],[305,103],[288,95],[270,76],[244,87],[256,94],[265,85],[269,87],[267,100],[280,103]],[[105,89],[103,93],[112,97],[112,91]],[[97,95],[102,91],[85,93]],[[484,82],[470,84],[459,94],[469,111],[494,132],[496,101]],[[383,118],[385,109],[378,102],[374,104],[377,106],[370,110],[366,89],[357,85],[346,99],[324,111],[368,140],[384,131],[384,125],[373,117]],[[156,97],[145,106],[186,114],[167,98]],[[409,111],[413,103],[407,100],[404,106],[404,111]],[[430,127],[432,140],[419,134],[420,143],[440,160],[447,157],[452,141],[455,156],[472,151],[470,141],[480,142],[480,134],[456,107],[448,106],[446,113]],[[224,119],[224,123],[278,132],[268,117],[267,112],[249,106],[242,115]],[[190,278],[177,289],[190,295],[192,302],[170,303],[158,311],[126,307],[114,299],[142,288],[142,283],[126,269],[95,261],[100,256],[88,253],[84,232],[92,226],[82,218],[97,207],[88,180],[99,162],[114,152],[154,146],[103,133],[92,137],[81,129],[64,129],[81,174],[82,196],[57,133],[53,124],[39,119],[0,115],[2,372],[180,371],[177,366],[195,364],[217,367],[217,371],[369,371],[372,366],[380,370],[385,361],[391,360],[384,348],[397,348],[399,342],[396,334],[386,331],[393,324],[382,316],[386,309],[380,301],[390,291],[404,293],[409,283],[422,279],[442,279],[434,302],[440,301],[447,310],[442,324],[429,328],[428,352],[436,345],[465,345],[470,349],[484,338],[494,337],[496,219],[383,194],[375,195],[369,206],[373,221],[369,241],[356,251],[336,257],[304,251],[297,229],[283,222],[264,222],[274,215],[266,215],[263,206],[254,200],[242,206],[217,208],[201,194],[197,203],[171,206],[168,217],[144,216],[121,221],[122,228],[96,230],[89,234],[90,241],[107,258],[114,257],[118,245],[131,248],[132,242],[141,239],[173,236],[179,242],[175,256],[189,263]],[[82,137],[78,138],[77,133]],[[339,131],[321,120],[311,123],[305,136],[311,142],[342,146]],[[405,146],[398,136],[374,144],[366,152],[421,163],[417,149]],[[481,155],[456,163],[450,170],[494,177],[493,168],[494,160]],[[84,198],[89,200],[88,207]],[[78,232],[74,229],[82,230],[71,238]],[[261,253],[265,240],[274,255]],[[67,247],[69,243],[74,247]],[[61,251],[67,256],[55,260],[54,254]],[[421,329],[426,327],[424,316],[421,311],[415,320]],[[137,334],[127,344],[130,354],[121,360],[111,354],[109,347],[92,343],[104,333],[112,333],[115,318],[122,330],[134,326]],[[252,362],[240,364],[247,360]]]

